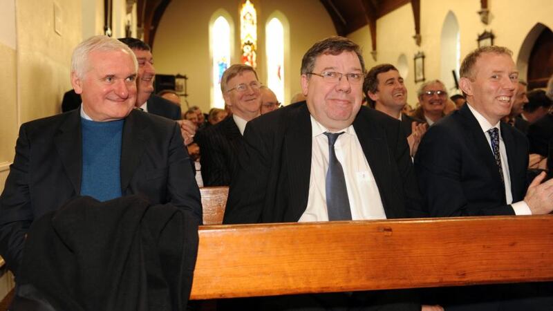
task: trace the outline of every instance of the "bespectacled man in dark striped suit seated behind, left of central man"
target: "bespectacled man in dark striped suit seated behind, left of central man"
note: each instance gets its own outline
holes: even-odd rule
[[[221,78],[221,92],[232,115],[196,135],[204,186],[228,186],[238,167],[246,123],[259,115],[261,83],[254,68],[235,64]]]

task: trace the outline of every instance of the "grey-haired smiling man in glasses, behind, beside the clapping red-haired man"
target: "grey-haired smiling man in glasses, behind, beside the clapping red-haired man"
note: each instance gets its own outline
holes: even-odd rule
[[[422,84],[418,91],[419,104],[413,117],[426,121],[429,126],[444,117],[447,91],[440,80],[432,80]]]

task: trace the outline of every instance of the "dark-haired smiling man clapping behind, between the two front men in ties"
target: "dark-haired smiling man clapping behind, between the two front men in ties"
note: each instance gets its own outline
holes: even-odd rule
[[[411,156],[415,156],[422,135],[428,125],[402,113],[407,104],[407,88],[400,72],[391,64],[374,66],[365,75],[363,93],[368,105],[402,122],[402,129],[409,142]]]

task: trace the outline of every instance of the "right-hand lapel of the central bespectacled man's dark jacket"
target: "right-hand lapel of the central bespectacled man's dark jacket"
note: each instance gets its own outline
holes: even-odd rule
[[[375,122],[368,119],[363,109],[355,117],[353,128],[365,154],[368,166],[371,167],[371,171],[375,177],[386,218],[394,218],[396,213],[393,210],[393,206],[388,204],[390,200],[386,197],[387,194],[393,194],[391,175],[388,173],[391,170],[390,155],[388,148],[385,147],[387,144],[384,141],[386,133],[384,133],[384,129],[376,126]]]

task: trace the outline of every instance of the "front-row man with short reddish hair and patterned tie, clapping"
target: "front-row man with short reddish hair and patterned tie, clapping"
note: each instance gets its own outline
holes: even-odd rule
[[[527,139],[500,122],[511,111],[517,82],[507,48],[478,48],[463,60],[460,88],[467,104],[431,126],[415,156],[423,206],[431,216],[552,211],[553,180],[541,183],[542,173],[526,187]],[[530,307],[518,304],[533,295],[532,286],[525,285],[455,289],[445,304],[460,310],[550,310],[551,305],[545,309],[533,305],[538,301],[526,301]]]

